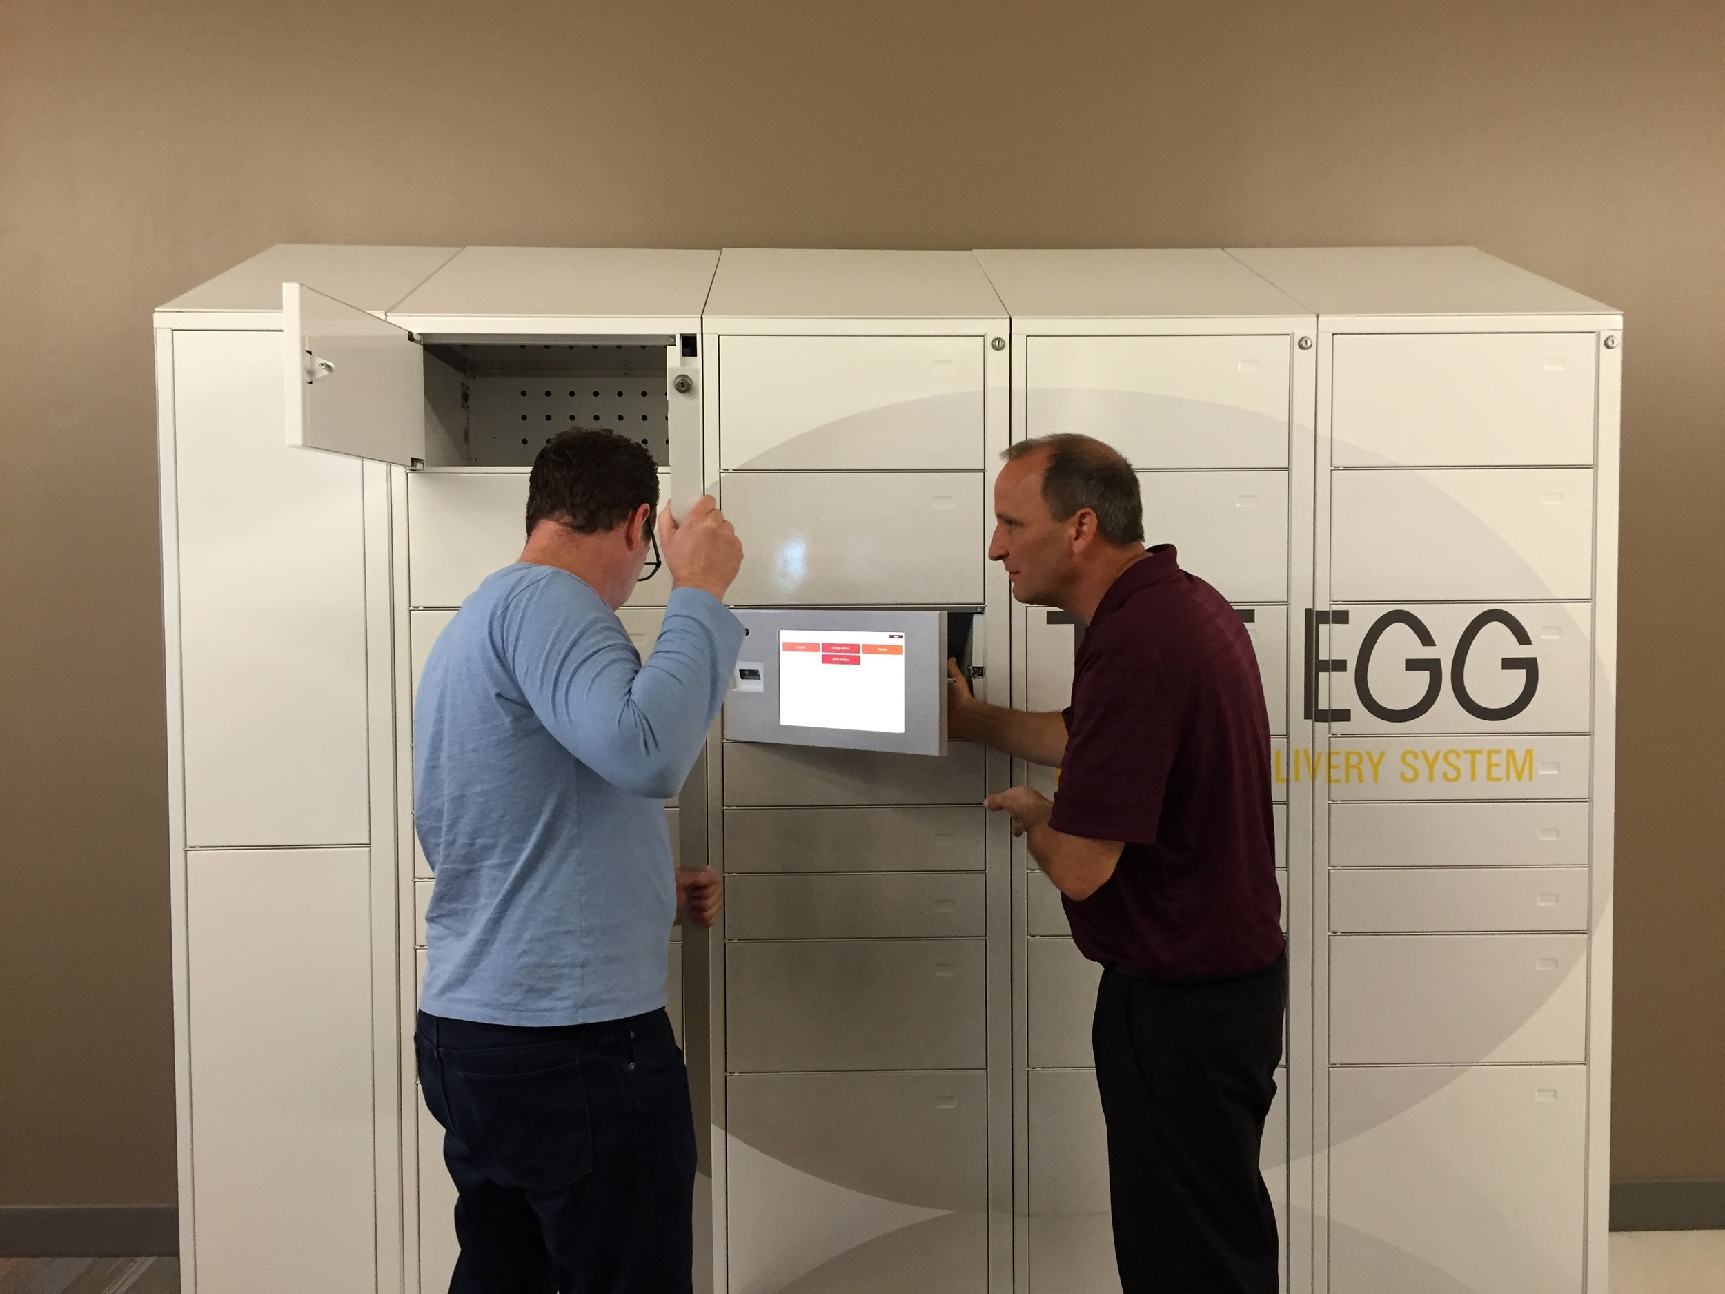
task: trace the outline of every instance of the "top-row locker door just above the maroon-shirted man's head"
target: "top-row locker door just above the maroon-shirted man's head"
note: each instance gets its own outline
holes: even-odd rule
[[[1285,468],[1287,336],[1033,336],[1032,437],[1083,431],[1135,468]]]

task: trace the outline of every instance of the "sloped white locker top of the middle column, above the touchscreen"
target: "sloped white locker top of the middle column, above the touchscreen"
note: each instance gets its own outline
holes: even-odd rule
[[[990,319],[1006,307],[969,252],[726,247],[709,319]]]

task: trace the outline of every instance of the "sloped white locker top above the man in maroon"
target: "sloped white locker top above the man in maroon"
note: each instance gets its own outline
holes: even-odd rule
[[[1014,319],[1311,314],[1220,248],[995,248],[976,261]]]

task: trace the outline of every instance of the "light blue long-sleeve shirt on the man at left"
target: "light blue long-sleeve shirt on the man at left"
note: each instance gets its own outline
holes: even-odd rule
[[[436,883],[421,1009],[583,1025],[664,1006],[676,914],[662,801],[719,713],[742,623],[676,588],[642,663],[585,581],[488,576],[414,700],[414,820]]]

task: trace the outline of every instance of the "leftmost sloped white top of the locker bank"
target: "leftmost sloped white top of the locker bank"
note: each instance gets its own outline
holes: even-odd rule
[[[304,283],[362,311],[383,312],[424,283],[459,247],[276,243],[174,297],[162,311],[281,311],[281,285]]]

